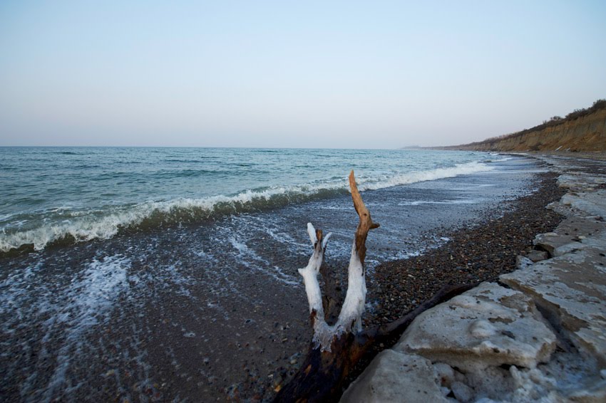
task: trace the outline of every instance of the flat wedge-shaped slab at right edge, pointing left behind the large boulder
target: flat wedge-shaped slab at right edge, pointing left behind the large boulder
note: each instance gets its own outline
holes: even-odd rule
[[[606,366],[606,231],[580,239],[568,253],[500,276],[531,295],[553,325]]]

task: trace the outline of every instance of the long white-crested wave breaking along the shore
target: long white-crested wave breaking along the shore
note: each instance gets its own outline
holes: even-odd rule
[[[469,162],[449,168],[385,174],[379,177],[361,175],[357,179],[359,189],[365,191],[491,169],[493,167],[481,162]],[[262,211],[316,199],[328,199],[348,192],[346,178],[332,177],[293,186],[247,189],[230,196],[146,201],[142,204],[108,206],[90,211],[68,211],[63,212],[60,220],[53,222],[47,217],[41,220],[43,224],[34,228],[5,227],[0,232],[0,252],[6,253],[21,248],[40,251],[52,244],[109,239],[120,231],[150,229],[163,224],[201,222],[228,214]]]

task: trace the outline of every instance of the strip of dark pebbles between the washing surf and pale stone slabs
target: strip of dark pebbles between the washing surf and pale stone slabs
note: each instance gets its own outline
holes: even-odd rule
[[[449,238],[438,248],[420,256],[379,264],[375,268],[375,283],[369,286],[368,300],[379,300],[384,308],[372,318],[366,314],[364,326],[396,320],[447,284],[478,284],[515,271],[517,256],[533,251],[535,236],[552,231],[564,219],[546,208],[565,194],[556,184],[557,177],[553,172],[538,174],[537,191],[514,201],[504,201],[502,204],[506,206],[500,217],[487,217],[477,226],[437,234]],[[491,212],[487,211],[486,215]],[[394,337],[391,345],[398,339]],[[375,353],[391,345],[376,348]],[[353,382],[369,364],[369,360],[362,361],[349,381]]]

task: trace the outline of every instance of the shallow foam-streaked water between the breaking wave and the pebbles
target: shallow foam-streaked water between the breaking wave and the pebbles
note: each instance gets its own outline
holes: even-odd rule
[[[467,157],[476,161],[453,167],[483,169],[391,187],[361,172],[362,197],[381,223],[368,241],[369,287],[376,263],[438,246],[438,232],[531,192],[540,170],[529,159]],[[435,174],[432,158],[426,171]],[[357,223],[346,191],[301,192],[276,206],[120,227],[0,257],[1,394],[32,402],[267,397],[310,338],[297,273],[311,251],[307,221],[333,232],[327,261],[339,269]]]

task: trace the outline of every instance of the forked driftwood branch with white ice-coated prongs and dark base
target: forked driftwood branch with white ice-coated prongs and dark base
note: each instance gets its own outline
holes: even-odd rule
[[[338,290],[334,278],[328,276],[323,266],[324,251],[331,234],[322,236],[321,230],[307,224],[309,239],[314,245],[314,253],[307,267],[299,269],[304,278],[305,291],[309,301],[309,317],[314,338],[309,345],[307,357],[293,379],[277,394],[275,402],[332,402],[341,397],[343,388],[360,362],[368,362],[378,352],[381,343],[392,345],[410,323],[423,311],[432,308],[473,286],[446,286],[430,300],[425,301],[404,317],[386,325],[361,330],[361,314],[366,299],[364,258],[366,237],[371,229],[379,227],[374,223],[364,201],[358,192],[354,172],[349,174],[349,186],[354,208],[359,216],[359,224],[351,247],[349,261],[349,282],[341,312],[337,318],[336,305]],[[317,274],[322,273],[326,295],[322,296]],[[334,325],[328,321],[337,318]]]

